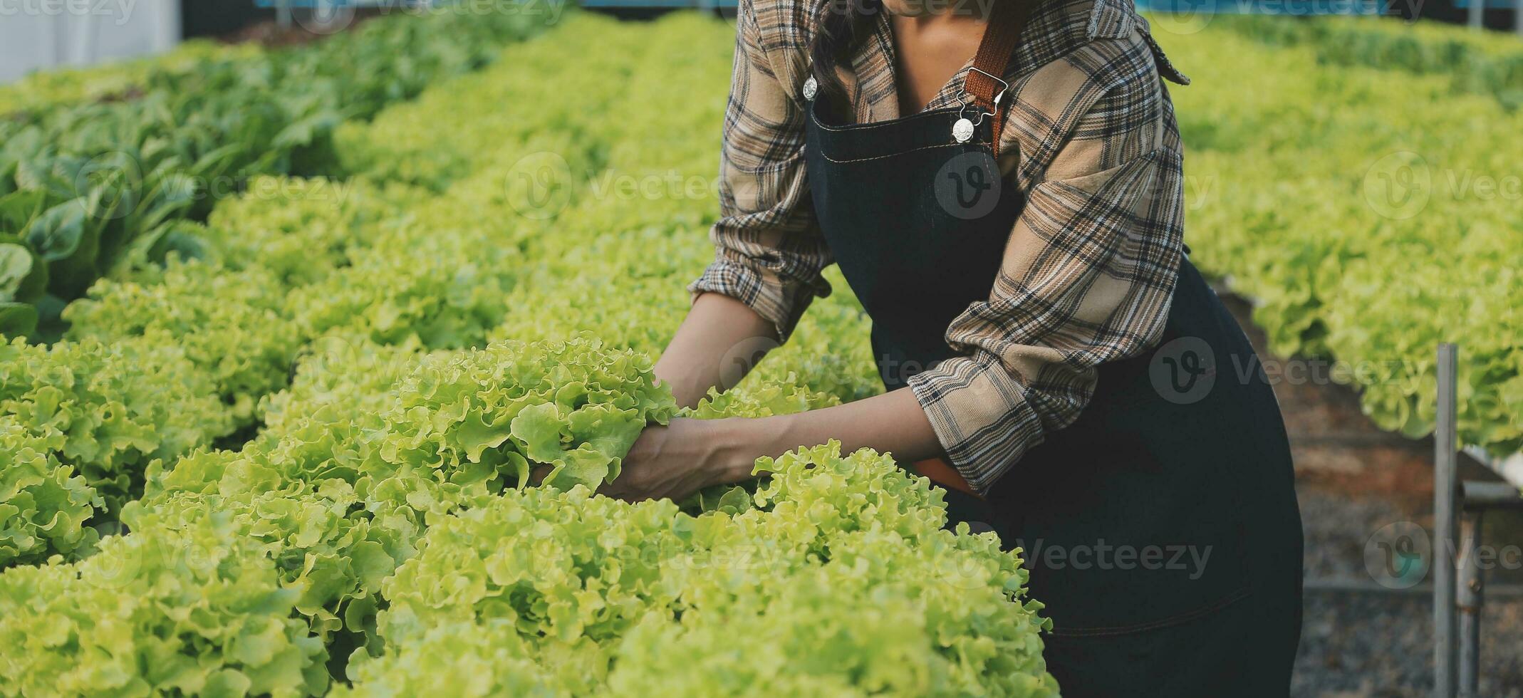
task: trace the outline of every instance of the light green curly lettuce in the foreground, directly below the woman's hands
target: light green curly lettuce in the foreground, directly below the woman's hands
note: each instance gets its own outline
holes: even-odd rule
[[[924,479],[838,443],[758,469],[766,494],[722,514],[576,488],[436,521],[382,584],[387,649],[353,692],[1055,695],[1019,556],[944,530]]]

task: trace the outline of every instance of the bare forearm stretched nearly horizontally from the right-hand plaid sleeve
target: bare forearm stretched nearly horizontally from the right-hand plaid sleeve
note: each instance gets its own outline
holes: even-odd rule
[[[830,439],[841,442],[842,453],[873,448],[892,453],[900,463],[943,454],[926,411],[908,389],[798,415],[719,419],[711,428],[716,443],[723,445],[714,457],[726,482],[749,479],[757,457],[781,456]]]

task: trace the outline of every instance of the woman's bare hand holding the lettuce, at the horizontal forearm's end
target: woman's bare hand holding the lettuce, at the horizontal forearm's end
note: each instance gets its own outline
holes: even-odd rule
[[[599,494],[629,501],[684,497],[710,485],[739,482],[751,468],[740,468],[730,419],[673,419],[667,427],[646,427],[624,456],[614,482]]]

